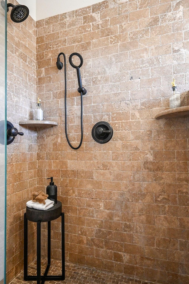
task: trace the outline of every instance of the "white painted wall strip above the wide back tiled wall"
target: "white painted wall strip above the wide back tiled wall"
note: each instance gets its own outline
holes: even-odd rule
[[[38,21],[51,16],[87,7],[102,1],[103,0],[36,0],[36,20]],[[32,0],[31,2],[34,1]]]

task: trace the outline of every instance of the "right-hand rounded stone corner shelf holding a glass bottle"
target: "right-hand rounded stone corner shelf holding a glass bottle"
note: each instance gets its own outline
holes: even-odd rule
[[[178,118],[189,116],[189,106],[175,107],[174,109],[167,109],[156,114],[155,118]]]

